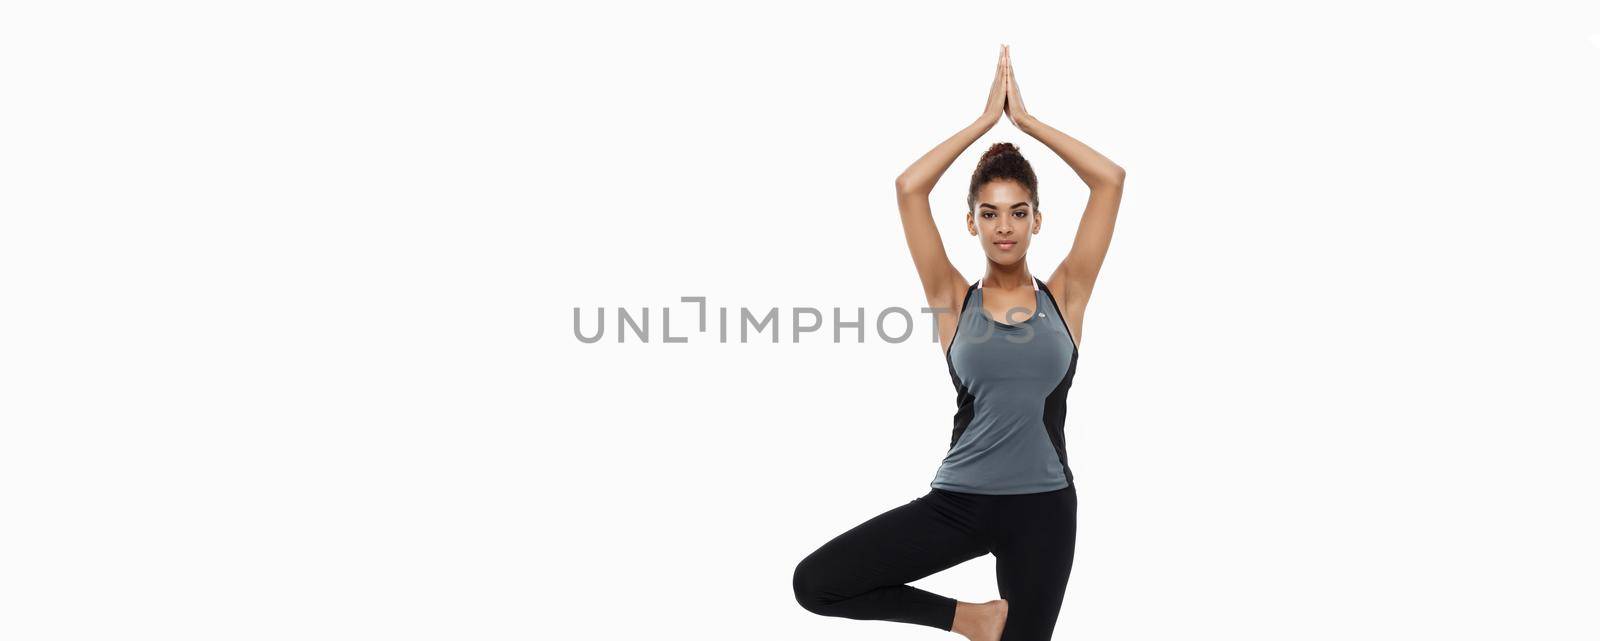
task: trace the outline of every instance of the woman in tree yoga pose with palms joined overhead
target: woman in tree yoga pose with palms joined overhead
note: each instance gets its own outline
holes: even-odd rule
[[[987,256],[968,285],[944,254],[928,193],[955,158],[1005,113],[1072,166],[1090,187],[1067,257],[1040,280],[1027,267],[1043,227],[1034,169],[1008,142],[978,161],[966,232]],[[1022,107],[1010,48],[976,123],[917,160],[896,181],[901,222],[957,392],[950,449],[931,491],[834,537],[795,567],[808,611],[920,623],[973,641],[1045,641],[1061,612],[1077,537],[1077,488],[1062,438],[1078,363],[1083,309],[1110,245],[1123,169]],[[998,321],[995,318],[1005,318]],[[957,601],[906,585],[995,555],[1000,598]]]

